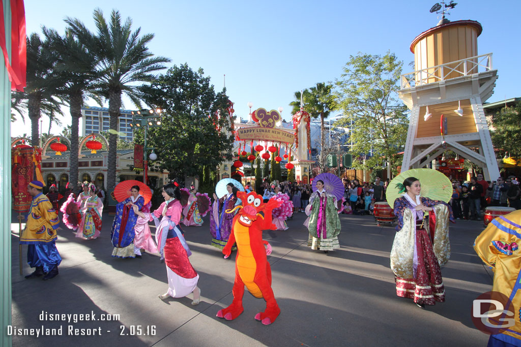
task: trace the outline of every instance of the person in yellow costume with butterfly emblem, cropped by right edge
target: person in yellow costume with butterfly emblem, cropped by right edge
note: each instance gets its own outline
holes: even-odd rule
[[[481,260],[494,271],[492,291],[504,294],[514,309],[514,325],[491,335],[488,346],[521,346],[520,243],[521,210],[492,220],[474,243],[474,250]]]

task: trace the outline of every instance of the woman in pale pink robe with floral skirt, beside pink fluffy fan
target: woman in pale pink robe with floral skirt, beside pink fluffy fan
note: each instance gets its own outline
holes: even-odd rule
[[[87,185],[89,198],[83,200],[80,207],[81,222],[76,232],[76,237],[86,240],[95,239],[100,236],[101,216],[103,212],[103,202],[96,195],[96,187],[91,183]]]

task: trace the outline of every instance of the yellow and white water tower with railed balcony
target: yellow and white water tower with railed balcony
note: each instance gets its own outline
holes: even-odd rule
[[[411,43],[415,71],[401,76],[399,91],[411,109],[402,172],[452,150],[483,168],[485,179],[499,177],[482,105],[498,75],[492,53],[478,55],[481,30],[477,21],[443,18]]]

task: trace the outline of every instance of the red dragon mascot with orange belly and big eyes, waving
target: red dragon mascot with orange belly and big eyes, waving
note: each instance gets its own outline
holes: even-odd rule
[[[233,244],[237,242],[233,302],[226,309],[219,310],[217,317],[232,320],[244,311],[242,297],[246,286],[255,298],[266,300],[266,310],[257,313],[255,319],[268,325],[275,322],[280,309],[271,289],[271,268],[266,256],[271,253],[271,246],[262,239],[262,230],[275,230],[275,225],[271,223],[271,210],[279,207],[281,201],[273,199],[263,203],[262,196],[255,192],[237,191],[237,197],[241,199],[242,205],[226,211],[232,213],[240,209],[233,217],[230,238],[222,250],[225,258],[228,258]],[[261,211],[264,211],[264,217],[259,213]]]

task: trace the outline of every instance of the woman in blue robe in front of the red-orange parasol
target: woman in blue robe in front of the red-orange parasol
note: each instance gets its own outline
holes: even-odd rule
[[[126,182],[119,185],[123,183]],[[134,252],[134,227],[138,221],[138,215],[135,214],[135,209],[132,206],[135,205],[138,211],[143,208],[145,198],[140,194],[140,190],[139,185],[132,186],[130,196],[116,205],[116,217],[110,233],[114,246],[112,256],[116,258],[135,258],[136,256],[136,252]],[[139,257],[141,257],[141,253],[138,254]]]

